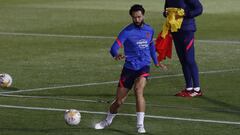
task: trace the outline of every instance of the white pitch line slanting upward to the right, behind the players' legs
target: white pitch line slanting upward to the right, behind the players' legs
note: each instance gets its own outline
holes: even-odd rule
[[[240,69],[214,70],[214,71],[199,72],[199,74],[213,74],[213,73],[222,73],[222,72],[234,72],[234,71],[239,71],[239,70]],[[153,76],[153,77],[150,77],[150,79],[161,79],[161,78],[170,78],[170,77],[179,77],[179,76],[183,76],[183,74]],[[76,85],[66,85],[66,86],[55,86],[55,87],[46,87],[46,88],[34,88],[34,89],[16,90],[16,91],[3,91],[3,92],[0,92],[0,94],[11,94],[11,93],[21,93],[21,92],[43,91],[43,90],[52,90],[52,89],[84,87],[84,86],[97,86],[97,85],[114,84],[114,83],[118,83],[118,81],[87,83],[87,84],[76,84]]]

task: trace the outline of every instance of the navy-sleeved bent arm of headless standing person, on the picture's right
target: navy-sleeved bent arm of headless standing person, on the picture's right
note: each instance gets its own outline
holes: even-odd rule
[[[185,0],[188,8],[185,10],[185,17],[186,18],[194,18],[202,14],[203,6],[199,0]]]

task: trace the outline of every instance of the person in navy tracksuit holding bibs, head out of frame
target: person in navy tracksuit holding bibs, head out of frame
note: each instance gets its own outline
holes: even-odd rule
[[[176,96],[202,96],[194,54],[194,32],[196,31],[194,18],[202,14],[202,4],[199,0],[165,0],[163,15],[167,17],[169,15],[168,9],[173,8],[184,10],[183,16],[176,13],[174,17],[176,20],[183,19],[180,29],[171,32],[186,83],[184,90],[181,90]]]

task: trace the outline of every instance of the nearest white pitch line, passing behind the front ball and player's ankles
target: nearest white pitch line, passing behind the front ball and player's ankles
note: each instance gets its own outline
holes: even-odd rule
[[[43,107],[27,107],[27,106],[14,106],[14,105],[0,105],[2,108],[13,108],[13,109],[27,109],[27,110],[42,110],[42,111],[60,111],[63,112],[66,109],[58,108],[43,108]],[[79,110],[81,113],[88,114],[106,114],[106,112],[95,112],[95,111],[85,111]],[[136,117],[136,114],[128,113],[118,113],[120,116],[131,116]],[[191,121],[191,122],[205,122],[205,123],[216,123],[216,124],[230,124],[230,125],[240,125],[240,122],[233,121],[219,121],[219,120],[207,120],[207,119],[192,119],[192,118],[179,118],[179,117],[166,117],[166,116],[156,116],[156,115],[145,115],[146,118],[153,119],[167,119],[167,120],[179,120],[179,121]]]

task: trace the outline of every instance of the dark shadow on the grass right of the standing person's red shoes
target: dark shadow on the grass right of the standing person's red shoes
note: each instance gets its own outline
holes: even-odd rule
[[[201,99],[206,100],[209,103],[212,103],[214,105],[220,106],[224,109],[218,109],[218,110],[213,110],[213,111],[218,111],[218,112],[222,112],[222,113],[228,113],[228,114],[234,114],[239,116],[240,115],[240,106],[236,106],[236,105],[232,105],[232,104],[228,104],[225,103],[223,101],[220,100],[216,100],[216,99],[212,99],[206,96],[202,96]],[[207,110],[210,110],[210,108],[208,108]]]

